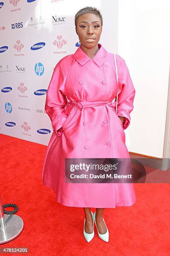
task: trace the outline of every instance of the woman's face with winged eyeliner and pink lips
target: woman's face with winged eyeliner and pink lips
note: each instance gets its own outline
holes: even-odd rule
[[[76,33],[79,36],[80,43],[86,48],[93,48],[98,44],[101,31],[99,16],[93,13],[85,13],[77,19]]]

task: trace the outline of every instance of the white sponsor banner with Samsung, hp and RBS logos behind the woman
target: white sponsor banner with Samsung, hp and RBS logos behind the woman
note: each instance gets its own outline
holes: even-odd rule
[[[53,129],[46,92],[58,61],[80,45],[74,15],[91,6],[81,2],[0,1],[0,133],[48,145]],[[100,0],[92,6],[108,11]]]

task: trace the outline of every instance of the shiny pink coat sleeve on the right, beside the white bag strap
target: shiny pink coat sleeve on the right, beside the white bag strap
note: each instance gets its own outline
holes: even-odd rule
[[[134,107],[133,101],[135,89],[127,65],[124,59],[122,59],[120,56],[117,73],[119,86],[121,84],[122,87],[121,92],[118,94],[117,115],[123,116],[125,118],[123,123],[123,129],[125,130],[130,124],[130,113]]]

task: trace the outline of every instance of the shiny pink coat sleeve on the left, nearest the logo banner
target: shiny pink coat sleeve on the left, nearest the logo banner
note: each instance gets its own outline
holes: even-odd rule
[[[67,119],[64,107],[67,105],[67,98],[63,94],[66,75],[63,74],[60,61],[56,65],[46,94],[45,110],[51,119],[53,131],[57,133]]]

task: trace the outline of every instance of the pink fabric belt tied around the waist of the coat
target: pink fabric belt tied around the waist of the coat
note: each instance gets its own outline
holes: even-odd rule
[[[115,100],[115,98],[113,100]],[[101,106],[101,105],[109,105],[110,107],[116,107],[116,102],[113,100],[94,100],[94,101],[82,100],[77,102],[69,100],[67,105],[70,105],[71,103],[73,103],[76,105],[77,108],[79,108],[79,110],[82,110],[83,108]]]

